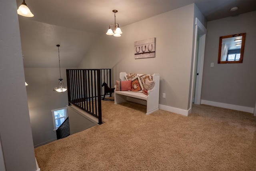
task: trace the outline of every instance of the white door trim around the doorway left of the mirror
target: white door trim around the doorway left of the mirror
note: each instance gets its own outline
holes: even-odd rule
[[[202,91],[202,80],[203,80],[203,68],[204,68],[204,48],[205,48],[205,40],[206,40],[206,28],[204,25],[198,20],[198,18],[195,18],[195,36],[194,36],[194,54],[193,54],[193,70],[192,70],[192,83],[194,82],[194,79],[196,79],[196,87],[195,87],[195,98],[194,103],[200,104],[201,101],[201,91]],[[196,46],[196,41],[198,34],[200,35],[199,38],[199,45]],[[198,64],[197,64],[197,70],[196,70],[196,49],[198,48]],[[199,75],[194,78],[195,72],[197,72]],[[193,89],[194,85],[191,86],[191,94],[190,94],[190,109],[192,109],[192,96],[193,96]]]

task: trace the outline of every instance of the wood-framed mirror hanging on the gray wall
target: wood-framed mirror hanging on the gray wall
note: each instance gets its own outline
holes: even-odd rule
[[[220,37],[218,64],[243,63],[246,33]]]

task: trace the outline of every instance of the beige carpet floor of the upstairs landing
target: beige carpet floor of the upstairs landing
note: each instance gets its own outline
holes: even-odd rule
[[[35,149],[41,171],[256,171],[256,117],[193,105],[188,117],[102,101],[104,124]]]

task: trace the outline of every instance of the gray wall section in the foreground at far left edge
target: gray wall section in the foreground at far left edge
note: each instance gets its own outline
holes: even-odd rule
[[[4,163],[7,171],[36,171],[16,0],[1,0],[0,21],[0,139]]]

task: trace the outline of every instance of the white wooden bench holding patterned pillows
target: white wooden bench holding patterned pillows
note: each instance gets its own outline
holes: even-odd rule
[[[125,81],[126,72],[120,72],[120,80]],[[137,103],[140,103],[136,99],[140,99],[146,102],[147,105],[147,111],[146,115],[149,115],[153,113],[154,111],[158,110],[159,106],[159,82],[160,82],[160,75],[159,74],[153,74],[153,81],[154,81],[154,88],[148,90],[148,95],[144,93],[139,92],[132,92],[132,91],[116,91],[116,85],[115,85],[115,95],[114,95],[114,104],[122,103],[124,101],[127,101],[127,97],[135,98],[134,101]],[[140,103],[143,104],[143,103]]]

